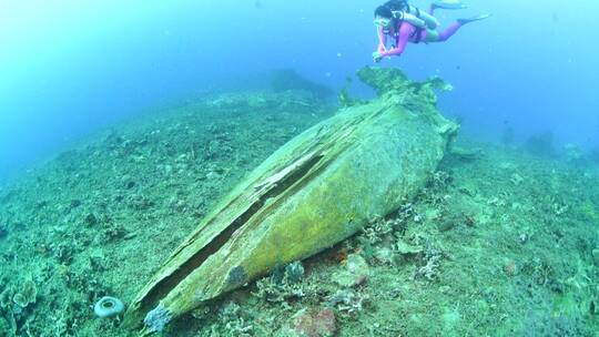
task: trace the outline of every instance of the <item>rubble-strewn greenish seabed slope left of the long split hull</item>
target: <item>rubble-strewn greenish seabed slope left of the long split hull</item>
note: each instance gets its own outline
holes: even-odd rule
[[[0,238],[2,331],[126,336],[90,307],[108,294],[131,299],[223,191],[333,112],[293,91],[229,96],[114,125],[2,186],[0,223],[10,224]],[[39,296],[16,314],[28,275]]]

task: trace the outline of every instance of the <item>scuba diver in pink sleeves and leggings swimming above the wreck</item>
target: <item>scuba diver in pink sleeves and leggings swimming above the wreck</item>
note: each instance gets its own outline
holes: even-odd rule
[[[375,25],[378,28],[378,48],[373,53],[373,60],[379,62],[385,57],[400,55],[407,42],[445,42],[464,24],[487,19],[483,14],[469,19],[458,19],[444,31],[438,31],[438,20],[434,17],[435,9],[465,9],[459,0],[436,1],[427,12],[410,6],[407,0],[390,0],[375,10]],[[387,49],[387,37],[393,39]]]

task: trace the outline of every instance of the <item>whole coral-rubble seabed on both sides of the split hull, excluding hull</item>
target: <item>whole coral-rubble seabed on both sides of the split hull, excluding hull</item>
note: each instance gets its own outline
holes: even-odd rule
[[[334,111],[293,92],[217,94],[114,125],[2,186],[0,336],[131,336],[94,303],[130,303],[223,193]],[[457,143],[485,155],[446,156],[395,213],[163,336],[326,336],[333,321],[339,337],[596,336],[597,166]],[[113,225],[124,232],[106,234]],[[342,287],[332,276],[351,255],[368,276]],[[28,280],[35,302],[18,298],[22,308],[13,298],[32,298]],[[264,286],[303,296],[271,302],[281,296],[258,295]]]

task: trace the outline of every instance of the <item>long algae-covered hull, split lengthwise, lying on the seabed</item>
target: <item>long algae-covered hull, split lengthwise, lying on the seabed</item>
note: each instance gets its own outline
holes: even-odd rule
[[[140,292],[129,326],[160,330],[273,267],[347,238],[423,186],[457,131],[435,108],[433,88],[443,83],[410,82],[392,69],[358,75],[379,98],[343,109],[254,170]]]

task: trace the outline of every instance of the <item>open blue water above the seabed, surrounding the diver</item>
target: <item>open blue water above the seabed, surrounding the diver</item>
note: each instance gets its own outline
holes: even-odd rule
[[[339,89],[372,64],[380,2],[0,1],[0,176],[128,115],[247,89],[272,69]],[[520,140],[550,130],[561,143],[597,146],[599,2],[467,3],[437,17],[494,17],[383,64],[453,83],[441,111],[483,141],[510,126]]]

